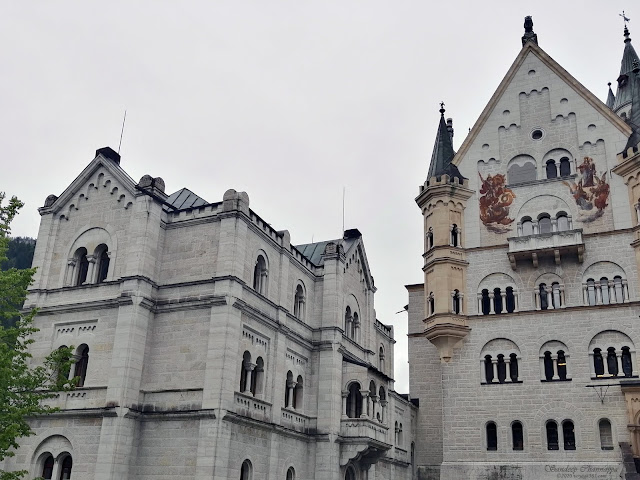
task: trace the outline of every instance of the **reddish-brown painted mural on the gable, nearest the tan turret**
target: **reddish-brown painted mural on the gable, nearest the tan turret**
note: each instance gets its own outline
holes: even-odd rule
[[[513,218],[509,218],[509,206],[516,194],[505,186],[506,177],[502,174],[480,176],[480,220],[488,230],[495,233],[507,233],[511,230]]]

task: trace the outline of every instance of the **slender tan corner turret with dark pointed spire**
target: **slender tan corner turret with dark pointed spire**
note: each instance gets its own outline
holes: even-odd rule
[[[453,348],[470,330],[463,295],[468,264],[462,226],[473,191],[452,163],[453,127],[451,119],[445,122],[444,104],[441,107],[429,175],[416,203],[424,217],[424,336],[438,348],[441,360],[448,362]]]

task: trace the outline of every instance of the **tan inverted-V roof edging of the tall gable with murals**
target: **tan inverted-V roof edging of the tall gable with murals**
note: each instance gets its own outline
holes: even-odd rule
[[[493,112],[494,108],[504,95],[507,87],[515,77],[518,69],[524,63],[525,59],[528,55],[535,55],[540,61],[545,64],[552,72],[558,75],[561,79],[563,79],[566,84],[571,87],[578,95],[580,95],[587,103],[589,103],[598,113],[600,113],[604,118],[609,120],[621,133],[625,135],[631,135],[632,131],[629,125],[627,125],[624,120],[622,120],[618,115],[616,115],[611,109],[607,108],[607,106],[602,103],[598,97],[596,97],[593,93],[591,93],[584,85],[582,85],[575,77],[573,77],[569,72],[567,72],[558,62],[556,62],[553,58],[549,56],[537,43],[534,42],[526,42],[520,50],[520,53],[514,60],[513,64],[509,68],[509,71],[504,76],[500,85],[491,96],[489,103],[484,107],[480,117],[476,120],[476,123],[473,125],[473,128],[465,138],[464,142],[460,146],[460,150],[456,153],[455,158],[453,159],[453,163],[458,164],[460,160],[467,154],[471,145],[475,141],[476,137],[479,135],[482,127],[487,122],[491,112]]]

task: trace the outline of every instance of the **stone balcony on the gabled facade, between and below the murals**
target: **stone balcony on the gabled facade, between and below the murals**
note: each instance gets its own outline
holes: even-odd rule
[[[582,229],[564,230],[560,232],[537,233],[522,237],[511,237],[509,240],[509,262],[516,269],[518,262],[529,261],[538,267],[541,257],[553,257],[556,265],[560,265],[562,256],[576,255],[582,263],[584,257],[584,241]]]

